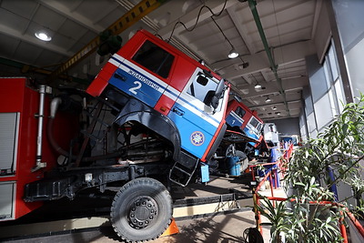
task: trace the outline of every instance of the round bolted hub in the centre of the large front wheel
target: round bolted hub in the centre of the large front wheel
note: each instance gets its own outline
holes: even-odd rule
[[[129,211],[129,223],[133,228],[146,228],[157,218],[157,202],[152,197],[137,197]]]

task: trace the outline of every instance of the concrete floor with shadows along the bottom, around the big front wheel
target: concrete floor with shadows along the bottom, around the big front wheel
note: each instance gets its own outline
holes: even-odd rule
[[[150,243],[189,243],[189,242],[242,242],[243,232],[246,228],[255,227],[254,213],[244,210],[235,213],[219,214],[206,218],[177,220],[179,233],[156,240]],[[263,228],[264,242],[269,242],[269,228]],[[24,238],[4,242],[16,243],[83,243],[83,242],[120,242],[111,227],[104,227],[84,232],[42,236],[39,238]]]

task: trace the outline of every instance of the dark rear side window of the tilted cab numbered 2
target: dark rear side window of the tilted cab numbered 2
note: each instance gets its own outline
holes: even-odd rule
[[[147,68],[147,70],[167,78],[172,67],[175,56],[156,44],[146,41],[139,48],[132,60]]]

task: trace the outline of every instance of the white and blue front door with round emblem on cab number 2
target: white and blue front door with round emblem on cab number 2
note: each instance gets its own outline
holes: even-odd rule
[[[198,158],[206,153],[224,118],[223,99],[215,110],[204,103],[214,94],[217,83],[197,67],[168,113],[179,131],[181,147]]]

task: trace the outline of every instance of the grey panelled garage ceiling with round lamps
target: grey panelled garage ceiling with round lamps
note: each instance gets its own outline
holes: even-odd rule
[[[0,0],[0,57],[53,71],[138,2]],[[125,43],[137,29],[145,28],[188,55],[203,59],[263,120],[298,117],[302,88],[308,86],[305,56],[316,54],[321,5],[321,0],[257,1],[276,74],[244,1],[169,0],[120,36]],[[176,25],[178,21],[184,25]],[[35,38],[35,31],[41,29],[51,35],[50,42]],[[232,46],[238,58],[227,58]],[[91,79],[106,59],[93,54],[67,75]],[[1,76],[12,76],[12,72],[11,68],[0,69]],[[257,84],[262,88],[255,88]],[[268,97],[270,102],[266,102]]]

